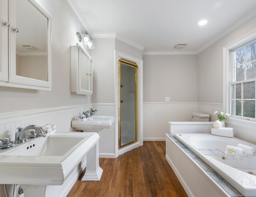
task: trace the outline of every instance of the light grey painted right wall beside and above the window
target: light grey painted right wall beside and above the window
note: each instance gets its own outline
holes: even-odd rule
[[[223,47],[256,28],[256,16],[197,55],[198,102],[222,103]]]

